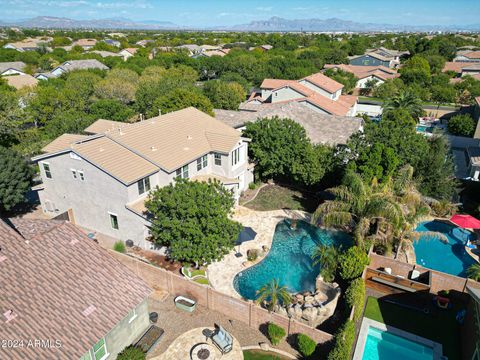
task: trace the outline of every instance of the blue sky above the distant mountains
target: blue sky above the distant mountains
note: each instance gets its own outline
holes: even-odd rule
[[[123,17],[185,26],[241,24],[271,16],[408,25],[480,23],[479,0],[0,0],[0,9],[3,20]]]

